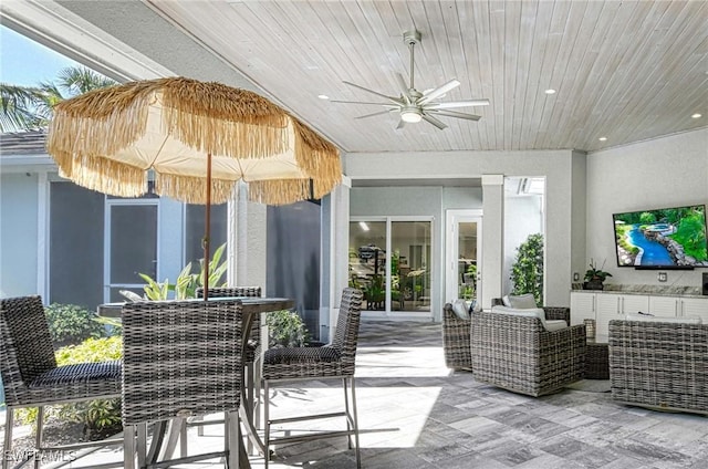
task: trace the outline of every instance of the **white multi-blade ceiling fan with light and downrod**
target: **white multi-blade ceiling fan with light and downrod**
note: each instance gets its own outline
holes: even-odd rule
[[[435,125],[440,131],[446,128],[447,125],[440,119],[438,119],[436,116],[456,117],[456,118],[464,118],[468,121],[479,121],[481,116],[478,116],[475,114],[460,113],[457,111],[449,111],[449,110],[457,108],[457,107],[487,106],[489,105],[489,100],[481,98],[481,100],[465,100],[465,101],[450,101],[450,102],[437,101],[439,97],[442,97],[447,92],[460,85],[460,82],[455,79],[450,80],[449,82],[434,90],[426,90],[424,92],[419,92],[418,90],[416,90],[414,77],[413,77],[414,67],[415,67],[415,46],[420,42],[420,38],[421,38],[421,34],[417,30],[406,31],[403,33],[403,40],[408,45],[408,50],[410,51],[410,84],[406,83],[405,79],[400,73],[396,73],[396,77],[398,79],[398,84],[400,85],[400,91],[402,91],[400,96],[398,97],[388,96],[377,91],[369,90],[364,86],[357,85],[355,83],[345,81],[344,82],[345,84],[363,90],[378,97],[383,97],[384,100],[386,100],[386,102],[371,103],[371,102],[337,101],[337,100],[332,100],[332,102],[347,103],[347,104],[376,104],[379,106],[384,106],[386,108],[385,111],[379,111],[373,114],[366,114],[363,116],[358,116],[356,118],[366,118],[366,117],[373,117],[382,114],[397,112],[400,114],[400,121],[398,122],[398,126],[396,128],[403,128],[406,124],[414,124],[420,121],[426,121]]]

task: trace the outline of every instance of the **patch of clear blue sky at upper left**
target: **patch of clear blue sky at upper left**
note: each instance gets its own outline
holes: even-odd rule
[[[0,25],[0,82],[34,86],[53,82],[59,72],[80,64],[9,28]]]

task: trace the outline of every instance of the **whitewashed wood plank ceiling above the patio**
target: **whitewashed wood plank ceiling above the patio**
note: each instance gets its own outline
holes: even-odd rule
[[[345,152],[590,152],[708,122],[706,1],[148,3]],[[459,80],[441,101],[489,98],[459,110],[479,122],[396,129],[397,113],[317,98],[379,101],[343,81],[399,95],[414,28],[416,87]]]

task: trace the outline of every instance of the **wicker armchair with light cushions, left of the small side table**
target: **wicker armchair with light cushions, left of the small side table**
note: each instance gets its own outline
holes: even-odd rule
[[[548,332],[539,317],[471,314],[475,379],[541,396],[583,378],[585,326]]]

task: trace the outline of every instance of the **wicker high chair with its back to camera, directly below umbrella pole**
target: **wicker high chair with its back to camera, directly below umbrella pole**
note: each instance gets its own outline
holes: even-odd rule
[[[183,455],[158,463],[164,467],[226,455],[228,468],[239,467],[241,320],[240,300],[154,301],[123,306],[126,469],[135,467],[136,454],[138,467],[145,467],[146,424],[184,421],[215,413],[225,414],[223,451]]]

